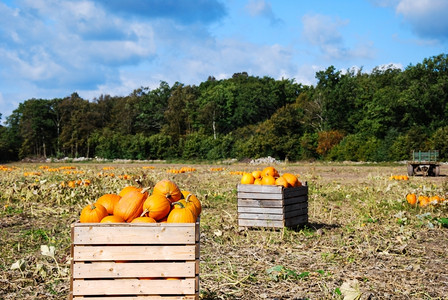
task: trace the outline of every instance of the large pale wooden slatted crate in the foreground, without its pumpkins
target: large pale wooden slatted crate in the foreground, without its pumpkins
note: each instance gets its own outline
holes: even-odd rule
[[[199,222],[74,223],[69,299],[199,299],[199,235]]]

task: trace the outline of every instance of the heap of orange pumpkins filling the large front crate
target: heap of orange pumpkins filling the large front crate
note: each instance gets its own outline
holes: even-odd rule
[[[81,223],[195,223],[201,214],[199,199],[163,179],[149,188],[126,186],[118,194],[105,194],[86,205]]]

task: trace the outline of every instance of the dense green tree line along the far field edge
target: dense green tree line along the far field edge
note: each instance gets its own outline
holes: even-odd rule
[[[0,126],[1,160],[398,161],[429,149],[448,157],[446,54],[403,70],[330,66],[316,79],[306,86],[241,72],[124,97],[29,99]]]

